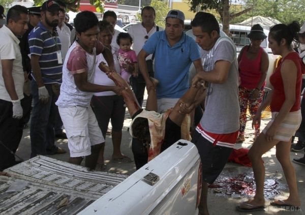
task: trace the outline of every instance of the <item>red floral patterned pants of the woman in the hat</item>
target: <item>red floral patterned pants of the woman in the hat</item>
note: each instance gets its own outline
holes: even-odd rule
[[[240,107],[240,117],[239,117],[239,135],[245,134],[245,128],[247,123],[247,109],[249,106],[249,112],[251,117],[256,114],[260,104],[262,103],[265,91],[262,89],[259,91],[259,96],[256,100],[251,100],[251,95],[255,89],[248,89],[245,87],[239,87],[239,107]],[[260,124],[254,125],[255,136],[259,135]]]

